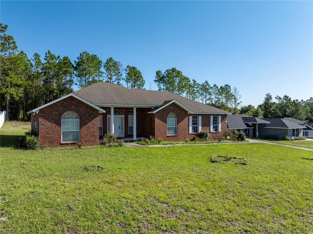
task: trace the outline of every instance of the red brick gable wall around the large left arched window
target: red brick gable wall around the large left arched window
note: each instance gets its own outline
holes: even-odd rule
[[[80,142],[85,146],[99,145],[99,111],[74,97],[68,97],[32,115],[32,122],[38,116],[40,147],[69,146],[69,143],[61,142],[61,117],[67,111],[76,112],[80,118]]]

